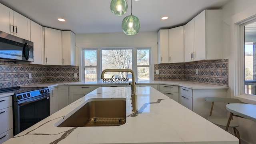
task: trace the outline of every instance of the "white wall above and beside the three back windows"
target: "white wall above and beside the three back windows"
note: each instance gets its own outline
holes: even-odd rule
[[[81,48],[150,47],[152,80],[154,80],[154,64],[157,64],[157,32],[138,32],[133,36],[124,33],[76,34],[76,47],[79,51],[77,58],[80,58]],[[79,66],[80,63],[79,60]]]

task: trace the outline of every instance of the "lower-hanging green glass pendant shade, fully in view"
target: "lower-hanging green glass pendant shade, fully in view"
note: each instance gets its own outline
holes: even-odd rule
[[[127,35],[137,34],[140,30],[140,20],[133,15],[126,16],[122,21],[122,30]]]

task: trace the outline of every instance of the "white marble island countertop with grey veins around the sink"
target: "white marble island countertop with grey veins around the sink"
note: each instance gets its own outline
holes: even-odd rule
[[[101,87],[4,144],[238,144],[238,138],[154,88],[137,87],[136,92],[138,112],[132,112],[130,87]],[[126,98],[126,123],[56,127],[91,98]]]

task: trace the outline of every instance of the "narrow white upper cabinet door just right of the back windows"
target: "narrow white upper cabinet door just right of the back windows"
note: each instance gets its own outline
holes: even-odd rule
[[[169,63],[169,30],[159,30],[157,37],[158,64]]]

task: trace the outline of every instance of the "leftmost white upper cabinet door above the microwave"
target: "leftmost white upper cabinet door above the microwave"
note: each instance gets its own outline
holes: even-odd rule
[[[11,27],[13,25],[13,10],[0,4],[0,31],[11,33]]]

